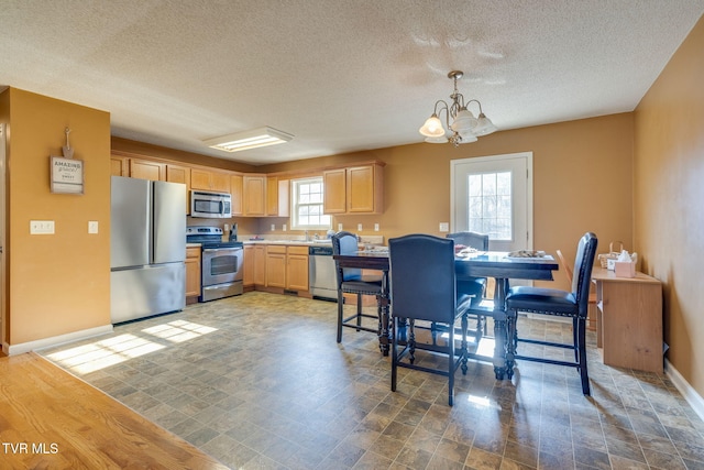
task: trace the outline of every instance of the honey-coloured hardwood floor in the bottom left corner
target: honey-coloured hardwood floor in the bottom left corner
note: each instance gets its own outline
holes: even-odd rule
[[[227,469],[34,353],[0,357],[2,468]]]

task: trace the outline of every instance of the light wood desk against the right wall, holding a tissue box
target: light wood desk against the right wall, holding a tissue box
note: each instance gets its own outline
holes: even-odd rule
[[[604,363],[640,371],[663,371],[662,284],[654,277],[616,277],[594,267],[596,284],[596,346]]]

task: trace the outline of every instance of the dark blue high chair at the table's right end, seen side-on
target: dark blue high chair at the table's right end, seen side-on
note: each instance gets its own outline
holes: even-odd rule
[[[508,291],[506,295],[506,310],[508,314],[509,376],[513,373],[513,361],[516,359],[572,367],[576,368],[580,372],[582,393],[590,395],[590,378],[586,367],[586,315],[588,310],[590,284],[592,282],[592,266],[594,264],[594,258],[596,256],[596,245],[597,239],[592,232],[586,232],[580,239],[574,261],[576,275],[572,278],[572,288],[570,292],[530,286],[516,286]],[[572,318],[572,343],[520,338],[517,330],[519,311]],[[517,348],[520,342],[571,349],[574,351],[574,361],[518,354]]]

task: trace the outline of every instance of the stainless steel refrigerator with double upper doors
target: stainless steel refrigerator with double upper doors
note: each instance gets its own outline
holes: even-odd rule
[[[186,185],[112,176],[113,324],[186,306]]]

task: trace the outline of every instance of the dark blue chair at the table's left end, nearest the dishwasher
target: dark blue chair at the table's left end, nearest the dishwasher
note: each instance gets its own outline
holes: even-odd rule
[[[332,254],[354,254],[359,251],[356,236],[341,231],[332,236]],[[336,261],[336,273],[338,278],[338,342],[342,342],[342,328],[354,328],[358,331],[375,332],[382,335],[382,309],[378,296],[382,294],[381,274],[362,274],[362,270],[352,267],[340,267]],[[344,314],[344,294],[356,295],[356,309],[354,315]],[[376,316],[364,313],[362,296],[373,295],[377,298]],[[376,328],[364,326],[363,318],[375,318]]]

